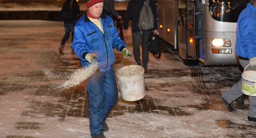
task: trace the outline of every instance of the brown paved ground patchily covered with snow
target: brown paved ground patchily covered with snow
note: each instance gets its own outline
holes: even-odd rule
[[[58,47],[62,22],[0,21],[0,138],[90,138],[86,82],[53,91],[43,69],[57,74],[80,67],[70,39],[64,54]],[[125,34],[132,51],[131,33]],[[135,102],[119,100],[106,123],[108,138],[252,138],[256,123],[247,108],[229,113],[219,99],[241,77],[238,66],[186,66],[162,44],[161,59],[150,54],[144,74],[146,96]],[[135,64],[115,51],[115,71]]]

